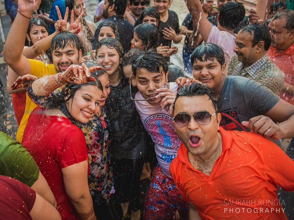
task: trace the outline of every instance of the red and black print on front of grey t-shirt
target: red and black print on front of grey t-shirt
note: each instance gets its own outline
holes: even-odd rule
[[[241,124],[238,108],[231,108],[220,112],[221,120],[220,126],[227,131],[238,130],[246,131],[245,127]]]

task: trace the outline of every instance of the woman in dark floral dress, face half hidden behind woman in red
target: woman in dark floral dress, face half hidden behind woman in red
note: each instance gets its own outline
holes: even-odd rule
[[[86,62],[85,65],[92,68],[98,66],[98,63]],[[116,220],[122,218],[123,211],[120,203],[114,199],[115,186],[111,158],[108,152],[108,146],[111,142],[111,128],[104,105],[110,93],[110,82],[104,68],[93,71],[92,75],[100,80],[103,87],[99,103],[100,110],[89,119],[88,123],[76,123],[76,125],[84,133],[86,139],[90,164],[88,183],[97,219]],[[57,82],[53,82],[47,90],[44,88],[48,88],[48,80],[38,80],[36,83],[38,86],[30,95],[31,99],[39,106],[50,105],[51,101],[48,100],[48,96],[58,86]],[[54,91],[54,93],[60,93],[60,91]]]

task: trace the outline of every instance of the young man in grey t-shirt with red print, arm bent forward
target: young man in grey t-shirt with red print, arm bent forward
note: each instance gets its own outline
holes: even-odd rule
[[[224,51],[219,46],[199,45],[191,63],[194,77],[215,93],[224,129],[253,131],[275,140],[294,137],[294,105],[254,80],[225,76]]]

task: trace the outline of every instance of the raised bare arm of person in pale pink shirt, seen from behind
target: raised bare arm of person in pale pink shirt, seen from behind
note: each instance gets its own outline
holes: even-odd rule
[[[199,0],[186,0],[186,5],[192,14],[193,26],[194,29],[197,30],[198,21],[199,21],[199,29],[203,40],[206,42],[209,36],[209,33],[212,29],[212,24],[208,21],[208,19],[204,16],[202,5]],[[201,20],[200,20],[201,17]]]

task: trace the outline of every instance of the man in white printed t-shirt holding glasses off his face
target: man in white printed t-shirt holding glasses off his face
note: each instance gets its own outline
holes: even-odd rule
[[[176,210],[182,219],[188,219],[189,205],[180,196],[169,173],[169,165],[181,144],[172,118],[178,85],[175,82],[167,83],[167,61],[155,51],[140,55],[134,61],[132,71],[139,90],[134,97],[135,105],[155,144],[159,163],[153,171],[146,196],[144,219],[171,219]]]

